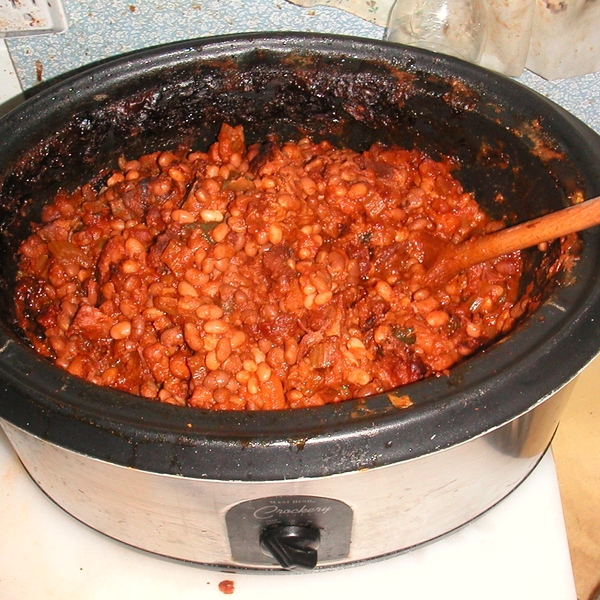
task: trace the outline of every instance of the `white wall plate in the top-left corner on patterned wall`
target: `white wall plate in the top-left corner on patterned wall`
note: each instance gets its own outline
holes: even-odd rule
[[[67,30],[60,0],[0,0],[0,38]]]

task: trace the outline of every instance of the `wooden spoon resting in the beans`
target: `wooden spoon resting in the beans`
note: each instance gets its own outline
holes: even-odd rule
[[[542,217],[446,246],[425,273],[424,286],[440,287],[480,262],[600,225],[600,196]]]

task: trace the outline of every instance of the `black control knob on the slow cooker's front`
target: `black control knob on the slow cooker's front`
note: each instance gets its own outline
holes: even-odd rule
[[[320,534],[310,525],[274,525],[260,536],[260,547],[284,569],[311,570],[317,566]]]

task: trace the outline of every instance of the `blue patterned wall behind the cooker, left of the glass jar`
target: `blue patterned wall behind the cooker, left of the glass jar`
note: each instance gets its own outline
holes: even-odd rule
[[[286,0],[63,0],[69,28],[7,40],[25,89],[96,60],[176,40],[257,31],[383,37],[377,27],[327,6]]]

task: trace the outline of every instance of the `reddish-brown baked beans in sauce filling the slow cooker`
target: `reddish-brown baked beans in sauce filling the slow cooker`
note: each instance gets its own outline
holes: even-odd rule
[[[77,377],[203,409],[320,406],[447,374],[514,324],[519,253],[422,284],[444,245],[501,226],[450,159],[247,146],[223,125],[207,152],[118,165],[58,193],[19,252],[20,326]]]

